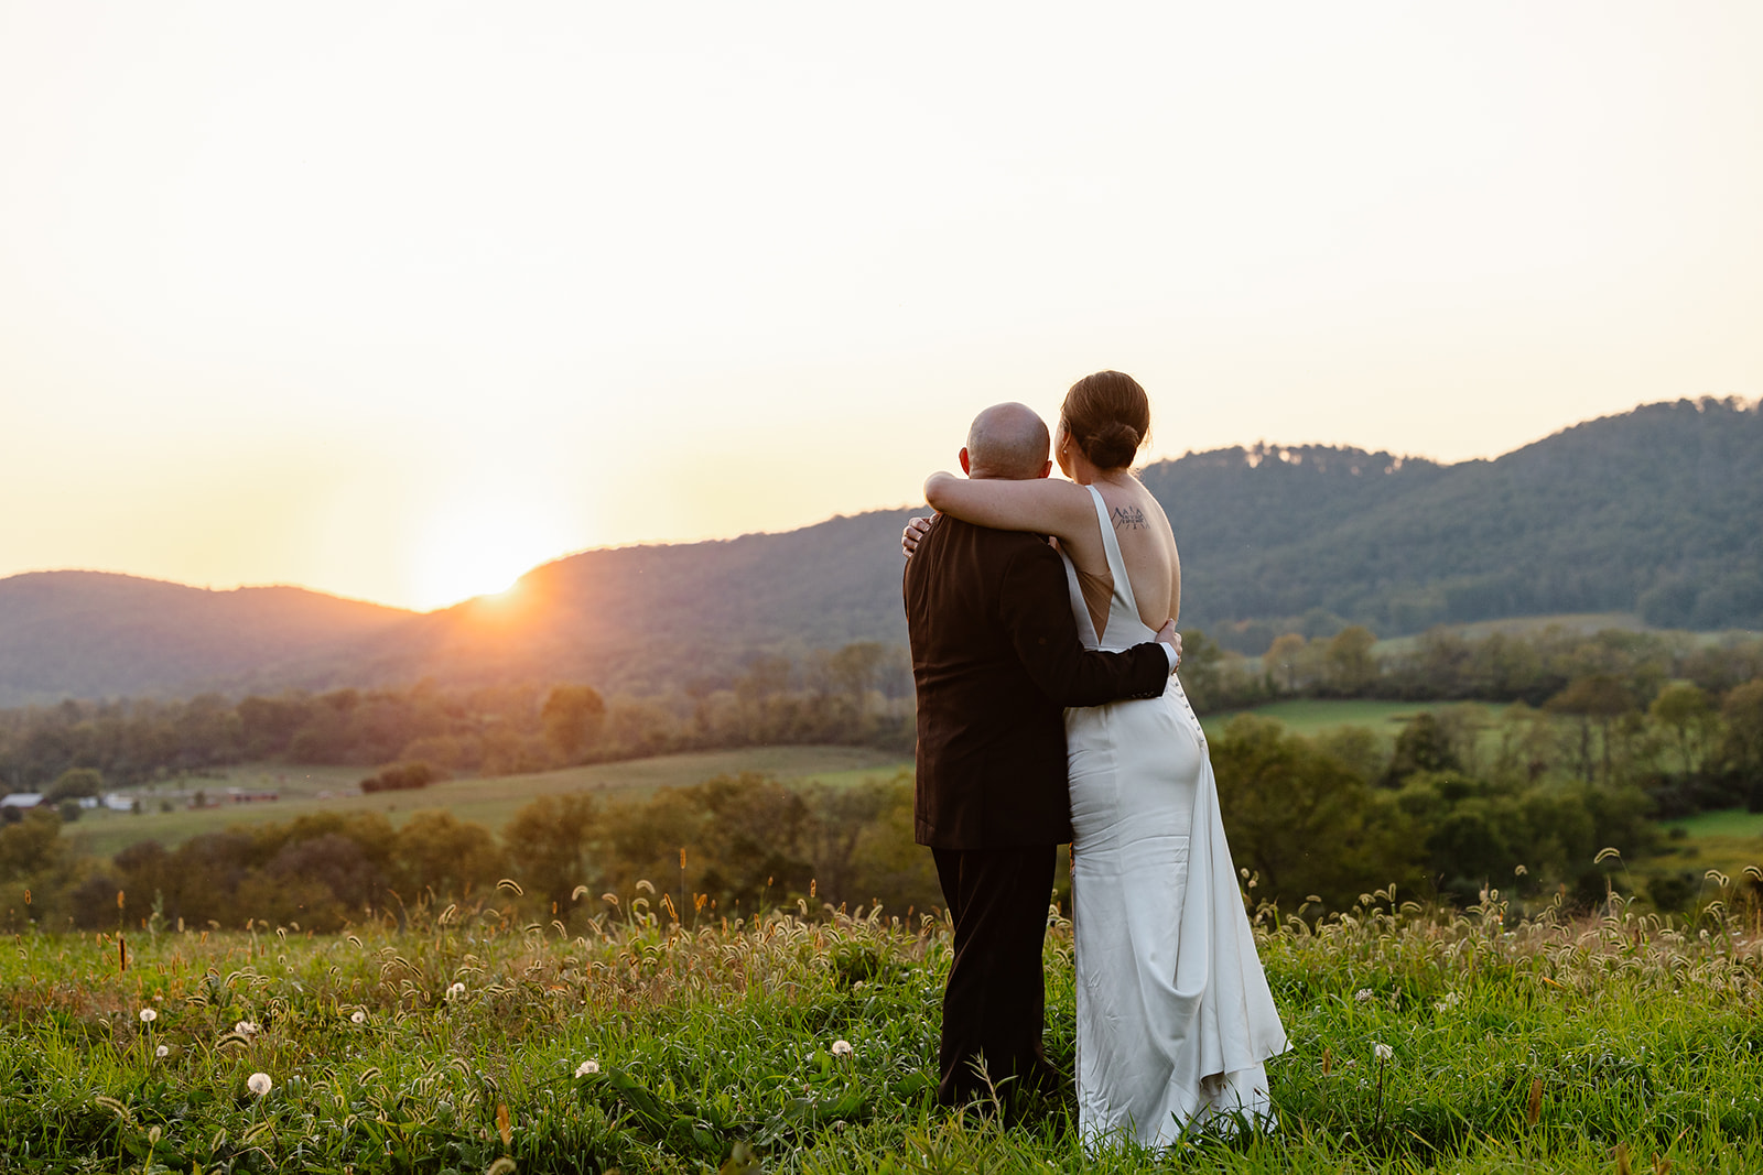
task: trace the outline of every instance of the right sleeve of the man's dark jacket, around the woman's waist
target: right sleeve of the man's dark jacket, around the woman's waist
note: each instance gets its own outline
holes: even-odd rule
[[[1068,601],[1065,564],[1051,546],[1024,548],[1005,569],[998,610],[1035,685],[1061,706],[1160,696],[1169,654],[1157,641],[1120,654],[1084,648]]]

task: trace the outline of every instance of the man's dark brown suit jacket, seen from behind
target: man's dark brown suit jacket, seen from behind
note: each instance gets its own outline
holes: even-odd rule
[[[1065,706],[1157,698],[1169,655],[1077,639],[1065,564],[1045,539],[948,518],[906,560],[919,687],[915,833],[933,849],[1072,839]]]

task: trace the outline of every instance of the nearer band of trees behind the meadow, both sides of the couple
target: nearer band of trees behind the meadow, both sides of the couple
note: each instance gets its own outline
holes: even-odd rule
[[[1721,698],[1668,682],[1645,706],[1640,689],[1587,676],[1543,706],[1423,710],[1395,740],[1356,726],[1301,736],[1238,715],[1209,749],[1250,897],[1322,913],[1395,883],[1456,905],[1493,886],[1520,905],[1590,907],[1631,886],[1597,861],[1603,849],[1624,863],[1666,851],[1657,816],[1758,803],[1763,777],[1763,678]],[[48,810],[0,828],[5,927],[157,918],[337,930],[474,897],[564,928],[629,913],[633,900],[684,921],[793,902],[941,904],[931,858],[911,840],[906,777],[800,789],[718,777],[610,803],[578,793],[534,800],[499,831],[448,812],[397,828],[379,814],[316,814],[176,847],[143,842],[111,860],[79,858],[58,833]],[[1678,911],[1696,886],[1654,870],[1643,897]]]

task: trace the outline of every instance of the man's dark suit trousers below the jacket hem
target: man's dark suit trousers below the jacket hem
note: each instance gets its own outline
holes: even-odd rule
[[[1015,849],[933,849],[943,900],[956,923],[956,962],[943,992],[943,1080],[936,1099],[959,1105],[986,1083],[973,1059],[998,1092],[1056,1080],[1040,1050],[1047,1016],[1040,944],[1047,937],[1056,846]],[[1045,1089],[1051,1092],[1051,1089]]]

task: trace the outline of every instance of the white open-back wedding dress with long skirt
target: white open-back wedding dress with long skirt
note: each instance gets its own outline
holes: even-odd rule
[[[1114,595],[1100,639],[1065,560],[1077,631],[1123,650],[1139,618],[1102,495]],[[1285,1052],[1218,814],[1206,735],[1181,684],[1065,712],[1077,946],[1077,1126],[1086,1143],[1162,1147],[1215,1115],[1273,1126],[1262,1062]]]

